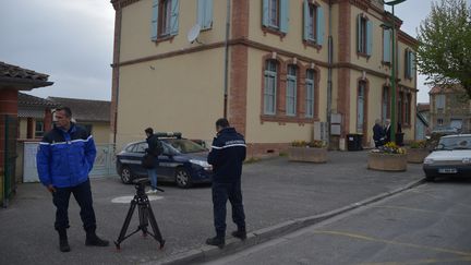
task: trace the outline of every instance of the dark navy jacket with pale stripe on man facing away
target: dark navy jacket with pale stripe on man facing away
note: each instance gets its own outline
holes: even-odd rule
[[[240,180],[245,160],[245,141],[233,128],[222,129],[214,138],[207,161],[213,165],[214,182]]]

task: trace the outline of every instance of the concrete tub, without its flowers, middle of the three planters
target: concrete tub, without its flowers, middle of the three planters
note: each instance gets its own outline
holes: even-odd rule
[[[406,171],[407,154],[384,154],[370,152],[367,167],[369,169],[382,171]]]

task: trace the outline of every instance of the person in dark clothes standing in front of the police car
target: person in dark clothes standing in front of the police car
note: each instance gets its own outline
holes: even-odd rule
[[[149,162],[146,162],[145,168],[147,169],[147,176],[150,179],[150,190],[148,190],[147,194],[155,194],[157,193],[157,166],[158,166],[158,156],[162,153],[164,147],[160,141],[158,140],[158,136],[154,134],[154,129],[147,128],[145,131],[146,133],[146,142],[147,142],[147,149],[146,149],[146,156],[147,159],[149,159]]]

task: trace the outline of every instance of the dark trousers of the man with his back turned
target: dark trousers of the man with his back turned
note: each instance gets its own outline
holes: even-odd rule
[[[239,229],[245,229],[245,214],[242,204],[241,181],[229,183],[213,182],[213,212],[217,237],[226,236],[226,204],[232,205],[232,221]]]

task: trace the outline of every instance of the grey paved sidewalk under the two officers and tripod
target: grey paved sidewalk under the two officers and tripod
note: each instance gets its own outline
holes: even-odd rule
[[[378,194],[390,192],[423,178],[420,165],[409,165],[406,172],[366,169],[366,152],[330,152],[327,164],[289,162],[279,157],[244,166],[243,196],[250,231],[313,216]],[[133,195],[134,186],[118,177],[93,180],[98,234],[116,240],[129,204],[111,200]],[[117,252],[113,246],[84,245],[78,208],[71,198],[69,229],[72,252],[58,251],[53,230],[55,209],[50,195],[40,184],[21,184],[7,209],[0,209],[0,264],[138,264],[171,258],[200,249],[214,234],[210,186],[181,190],[164,185],[160,200],[152,202],[157,221],[167,240],[166,248],[150,237],[135,234]],[[228,206],[228,233],[231,224]],[[134,216],[130,231],[137,227]]]

